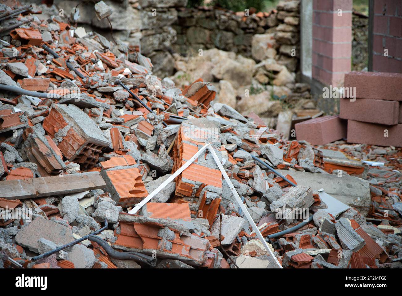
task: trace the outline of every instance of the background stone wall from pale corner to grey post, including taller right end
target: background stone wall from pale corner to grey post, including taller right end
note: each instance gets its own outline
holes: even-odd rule
[[[295,72],[299,52],[299,1],[280,2],[277,10],[245,15],[245,12],[211,7],[182,8],[173,24],[180,54],[218,48],[257,62],[276,58]]]

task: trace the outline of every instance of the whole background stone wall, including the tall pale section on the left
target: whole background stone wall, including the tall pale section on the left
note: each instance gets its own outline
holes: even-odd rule
[[[38,0],[39,1],[39,0]],[[151,58],[154,73],[174,74],[174,53],[193,54],[200,49],[232,51],[257,62],[275,58],[291,72],[299,67],[299,0],[281,1],[277,10],[249,13],[212,7],[186,8],[187,0],[104,0],[113,9],[109,17],[113,35]],[[87,31],[99,31],[111,39],[106,19],[96,19],[93,3],[55,0]]]

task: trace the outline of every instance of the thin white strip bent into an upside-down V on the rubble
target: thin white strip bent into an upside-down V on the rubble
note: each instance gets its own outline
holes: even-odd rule
[[[174,174],[172,174],[172,176],[170,176],[169,178],[167,178],[162,184],[160,184],[158,186],[158,188],[156,188],[154,191],[152,191],[152,193],[150,195],[148,195],[148,197],[146,197],[145,199],[143,199],[140,203],[138,203],[133,209],[131,209],[131,211],[129,211],[129,214],[135,214],[137,213],[137,211],[139,209],[141,209],[146,203],[148,203],[148,201],[150,201],[152,199],[152,197],[154,197],[156,194],[159,193],[160,190],[162,190],[167,184],[169,184],[170,182],[172,182],[174,180],[174,178],[176,178],[181,172],[183,172],[190,164],[192,164],[195,159],[197,159],[201,153],[203,153],[203,151],[208,148],[208,150],[211,152],[213,159],[215,160],[219,170],[222,172],[222,175],[225,178],[226,183],[228,184],[230,190],[232,191],[234,197],[236,198],[237,203],[239,204],[240,208],[242,209],[242,211],[244,212],[244,215],[246,216],[248,223],[250,223],[252,229],[254,230],[254,232],[256,233],[257,237],[260,239],[260,241],[262,242],[262,244],[264,245],[265,249],[268,251],[268,253],[272,256],[273,259],[275,259],[275,263],[278,265],[279,268],[283,268],[282,265],[279,263],[278,259],[275,257],[275,255],[273,254],[271,248],[269,248],[267,242],[265,241],[263,235],[261,234],[260,230],[258,229],[258,227],[256,226],[256,224],[254,223],[254,220],[252,219],[250,213],[248,213],[247,208],[244,206],[242,200],[240,199],[239,194],[237,193],[236,189],[234,189],[234,186],[232,184],[232,182],[230,181],[230,178],[228,176],[228,174],[226,174],[226,171],[224,169],[224,167],[222,166],[221,162],[218,159],[218,156],[216,155],[215,151],[213,150],[213,148],[211,147],[211,144],[206,144],[204,145],[197,153],[195,153],[193,155],[193,157],[191,157],[183,166],[181,166],[176,172],[174,172]]]

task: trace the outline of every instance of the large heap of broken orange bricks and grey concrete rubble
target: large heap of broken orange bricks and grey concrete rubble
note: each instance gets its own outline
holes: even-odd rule
[[[0,267],[401,267],[401,149],[283,140],[203,79],[179,89],[17,8],[0,6]]]

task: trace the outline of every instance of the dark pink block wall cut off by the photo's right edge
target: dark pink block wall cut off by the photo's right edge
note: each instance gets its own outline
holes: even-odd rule
[[[388,56],[385,56],[388,50]],[[402,73],[402,1],[375,0],[373,71]]]

